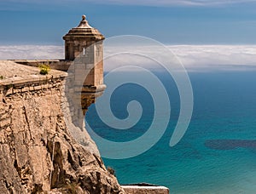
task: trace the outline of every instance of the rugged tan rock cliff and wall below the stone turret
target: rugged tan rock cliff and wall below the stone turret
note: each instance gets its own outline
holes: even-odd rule
[[[69,132],[63,117],[66,73],[0,61],[1,193],[123,193],[96,145]],[[61,97],[62,96],[62,97]],[[66,108],[68,111],[68,108]]]

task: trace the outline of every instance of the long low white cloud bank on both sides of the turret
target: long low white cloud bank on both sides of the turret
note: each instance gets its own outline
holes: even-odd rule
[[[172,45],[167,46],[177,56],[188,71],[245,71],[256,70],[256,45]],[[131,54],[117,54],[121,47],[106,48],[107,52],[117,54],[113,62],[105,62],[105,71],[122,65],[136,65],[157,69],[151,59],[157,58],[156,52],[150,46],[143,47],[148,57],[137,57],[142,48],[126,48]],[[168,56],[166,56],[168,57]],[[0,60],[50,60],[63,59],[63,46],[0,46]],[[167,59],[167,58],[166,58]]]

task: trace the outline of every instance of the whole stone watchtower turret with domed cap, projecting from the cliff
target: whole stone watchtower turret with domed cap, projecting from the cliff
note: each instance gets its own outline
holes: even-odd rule
[[[69,99],[73,102],[73,123],[84,121],[84,114],[96,97],[102,95],[106,86],[103,84],[103,40],[105,37],[91,27],[85,15],[79,26],[72,28],[63,37],[65,40],[65,60],[72,62],[72,84],[68,87],[74,90]],[[83,115],[79,108],[82,106]]]

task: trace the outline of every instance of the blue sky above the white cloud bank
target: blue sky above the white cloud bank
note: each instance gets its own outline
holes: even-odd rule
[[[256,43],[252,0],[1,0],[0,43],[61,45],[82,14],[105,37],[133,34],[166,44]]]

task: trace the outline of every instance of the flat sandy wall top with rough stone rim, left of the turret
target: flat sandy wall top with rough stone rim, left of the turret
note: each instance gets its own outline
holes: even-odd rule
[[[16,64],[12,61],[0,63],[3,79],[0,80],[0,93],[8,100],[16,96],[22,97],[26,93],[43,95],[46,90],[60,89],[67,73],[63,71],[50,71],[48,75],[40,75],[39,69]],[[13,76],[10,76],[10,73]]]

